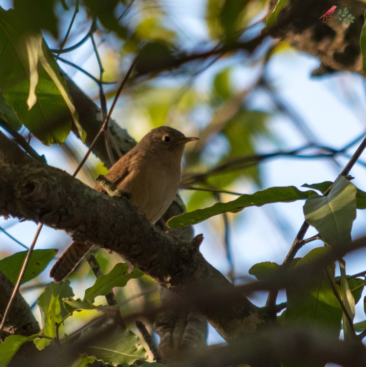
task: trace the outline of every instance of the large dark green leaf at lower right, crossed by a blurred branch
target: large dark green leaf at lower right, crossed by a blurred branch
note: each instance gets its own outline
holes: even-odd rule
[[[329,251],[330,248],[326,246],[314,248],[297,262],[294,269],[316,261]],[[328,266],[327,270],[334,280],[335,264]],[[325,272],[320,272],[310,284],[302,285],[301,282],[297,282],[286,290],[286,295],[286,325],[293,326],[294,323],[300,323],[312,327],[326,327],[334,337],[338,338],[342,309]]]

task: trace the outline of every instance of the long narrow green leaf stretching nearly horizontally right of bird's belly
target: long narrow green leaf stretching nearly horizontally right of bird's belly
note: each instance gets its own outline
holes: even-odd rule
[[[228,203],[216,203],[205,209],[197,209],[188,213],[183,213],[173,217],[167,223],[171,228],[196,224],[213,217],[213,215],[222,214],[228,211],[238,212],[250,206],[262,206],[269,203],[289,203],[296,200],[304,200],[314,195],[315,192],[300,191],[294,186],[271,187],[263,191],[257,191],[252,195],[241,195]]]

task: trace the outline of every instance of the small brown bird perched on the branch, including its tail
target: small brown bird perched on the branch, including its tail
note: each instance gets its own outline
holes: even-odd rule
[[[131,203],[155,224],[174,200],[181,178],[184,146],[198,138],[187,138],[171,127],[151,130],[118,160],[106,174],[118,189],[131,193]],[[105,192],[101,185],[95,190]],[[92,244],[73,242],[51,269],[56,282],[69,275]]]

